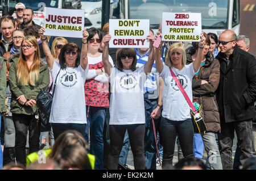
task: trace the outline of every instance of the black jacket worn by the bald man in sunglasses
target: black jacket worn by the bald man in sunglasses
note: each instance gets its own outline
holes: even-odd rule
[[[234,47],[226,64],[224,53],[216,57],[220,61],[220,84],[217,102],[221,121],[225,123],[253,119],[256,98],[256,61],[252,54]]]

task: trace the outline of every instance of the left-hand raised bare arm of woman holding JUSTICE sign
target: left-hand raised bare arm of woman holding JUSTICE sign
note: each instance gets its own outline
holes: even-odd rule
[[[43,50],[44,54],[46,55],[46,62],[48,68],[51,70],[53,68],[54,58],[52,56],[51,50],[49,49],[47,37],[46,35],[43,35],[44,32],[46,32],[46,29],[44,27],[41,27],[39,30],[39,35],[41,36]]]

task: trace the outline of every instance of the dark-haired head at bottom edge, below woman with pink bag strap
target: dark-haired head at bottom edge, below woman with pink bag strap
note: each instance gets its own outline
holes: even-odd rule
[[[175,170],[206,170],[204,162],[199,158],[183,158],[174,166]]]

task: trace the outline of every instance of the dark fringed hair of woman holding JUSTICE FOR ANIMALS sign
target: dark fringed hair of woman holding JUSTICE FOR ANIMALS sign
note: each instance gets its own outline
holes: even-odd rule
[[[81,54],[81,49],[77,47],[75,43],[68,43],[63,46],[60,50],[59,54],[59,62],[60,62],[60,67],[61,69],[65,69],[67,67],[66,65],[66,60],[65,60],[65,52],[74,52],[77,51],[77,57],[76,57],[76,62],[75,62],[75,67],[77,68],[80,64],[80,54]]]

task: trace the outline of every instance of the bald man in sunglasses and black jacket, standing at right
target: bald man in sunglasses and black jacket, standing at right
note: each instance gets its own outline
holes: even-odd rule
[[[241,148],[240,162],[252,154],[252,119],[255,114],[256,61],[252,54],[236,44],[236,33],[226,30],[220,34],[220,84],[217,102],[221,133],[218,134],[221,162],[224,170],[233,169],[232,145],[234,131]]]

